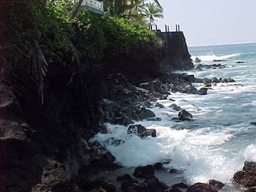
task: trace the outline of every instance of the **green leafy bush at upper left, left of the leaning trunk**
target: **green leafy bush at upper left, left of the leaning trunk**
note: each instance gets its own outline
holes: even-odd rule
[[[61,14],[61,6],[63,5],[55,8],[39,5],[36,1],[31,1],[28,5],[28,25],[23,38],[38,41],[43,53],[48,56],[61,55],[70,49],[65,36],[72,33],[72,26],[66,19],[66,14]]]

